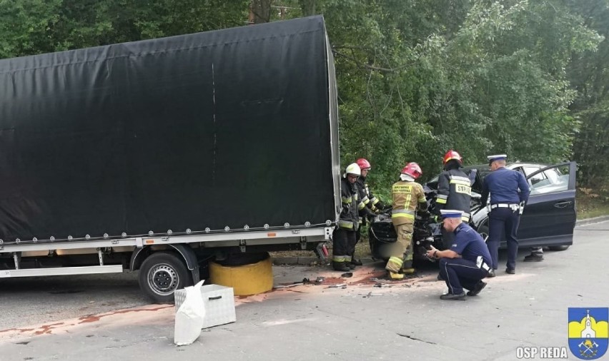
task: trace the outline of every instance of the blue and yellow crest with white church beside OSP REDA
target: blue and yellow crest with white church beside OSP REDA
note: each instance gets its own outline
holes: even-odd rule
[[[569,307],[569,349],[582,360],[603,357],[609,343],[609,307]]]

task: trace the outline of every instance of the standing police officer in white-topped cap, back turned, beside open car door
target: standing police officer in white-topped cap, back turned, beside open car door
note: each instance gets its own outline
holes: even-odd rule
[[[488,156],[490,170],[482,183],[482,207],[487,203],[490,193],[490,213],[488,215],[488,250],[492,258],[492,271],[489,277],[495,277],[497,269],[499,242],[505,232],[508,243],[508,264],[506,273],[516,273],[516,255],[518,239],[516,232],[520,223],[520,214],[529,198],[530,188],[523,173],[505,168],[505,154]]]

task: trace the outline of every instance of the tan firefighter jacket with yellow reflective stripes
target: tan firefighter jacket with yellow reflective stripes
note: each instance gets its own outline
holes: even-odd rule
[[[427,200],[422,185],[417,182],[400,180],[391,187],[393,209],[391,220],[394,225],[414,223],[418,210],[427,210]]]

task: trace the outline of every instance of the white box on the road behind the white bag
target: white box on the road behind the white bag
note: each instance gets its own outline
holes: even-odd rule
[[[201,296],[205,307],[203,328],[225,325],[237,320],[234,312],[234,293],[232,287],[204,285],[201,288]],[[186,299],[186,291],[176,290],[174,298],[177,311]]]

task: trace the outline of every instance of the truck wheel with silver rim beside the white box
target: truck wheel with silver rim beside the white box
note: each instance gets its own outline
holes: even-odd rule
[[[192,285],[184,262],[172,253],[149,255],[139,268],[139,288],[157,303],[173,303],[174,291]]]

